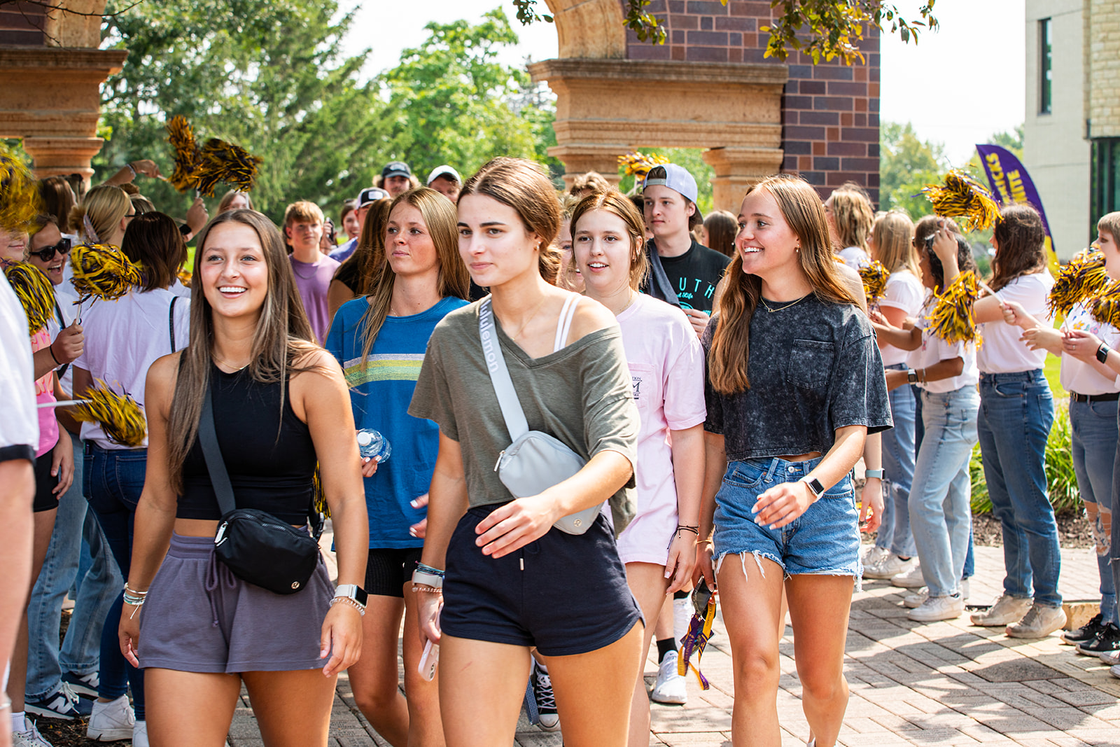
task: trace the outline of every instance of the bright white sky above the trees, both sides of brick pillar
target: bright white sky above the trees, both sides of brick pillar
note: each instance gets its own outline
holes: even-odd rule
[[[974,143],[1021,124],[1026,106],[1024,2],[939,0],[939,34],[924,36],[917,46],[903,44],[897,36],[884,37],[883,119],[912,122],[921,138],[944,143],[954,166],[969,159]],[[428,21],[478,21],[498,4],[511,18],[514,13],[508,0],[365,0],[361,4],[346,50],[354,54],[371,46],[370,73],[394,66],[402,49],[423,41]],[[913,15],[918,2],[899,0],[898,4]],[[543,0],[539,6],[545,9]],[[556,57],[551,25],[534,24],[517,28],[517,34],[521,44],[503,62]]]

